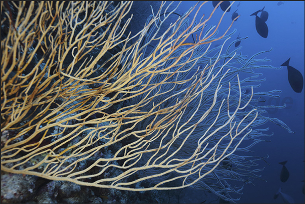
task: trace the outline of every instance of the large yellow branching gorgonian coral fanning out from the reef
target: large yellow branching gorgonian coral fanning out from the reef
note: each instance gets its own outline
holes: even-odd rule
[[[196,22],[202,3],[165,29],[177,7],[162,3],[131,35],[132,4],[1,3],[3,171],[103,188],[177,189],[212,174],[249,135],[258,113],[244,109],[253,91],[244,100],[238,75],[224,70],[241,56],[208,46],[232,24],[215,37],[223,17],[206,29],[214,11]],[[228,75],[238,93],[231,98],[231,83],[222,88]]]

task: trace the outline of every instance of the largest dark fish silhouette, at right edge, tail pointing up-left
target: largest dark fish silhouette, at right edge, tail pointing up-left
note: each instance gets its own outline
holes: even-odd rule
[[[295,91],[296,93],[301,93],[303,89],[303,81],[304,81],[303,76],[301,72],[299,72],[299,70],[293,68],[292,66],[289,66],[289,61],[290,58],[286,62],[284,62],[281,66],[287,66],[288,81],[293,91]]]

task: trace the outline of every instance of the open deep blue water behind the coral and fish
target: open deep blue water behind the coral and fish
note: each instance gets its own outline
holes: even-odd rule
[[[232,36],[232,40],[236,39],[238,33],[240,33],[240,37],[249,37],[240,44],[242,54],[250,57],[257,52],[273,48],[272,52],[265,53],[260,58],[271,59],[272,62],[267,62],[267,64],[274,67],[280,67],[282,63],[291,58],[289,65],[299,70],[304,77],[304,2],[284,2],[280,6],[277,5],[278,2],[240,2],[239,7],[237,7],[238,4],[239,2],[235,2],[231,11],[225,15],[219,28],[220,34],[228,28],[232,22],[232,13],[238,9],[237,13],[240,18],[233,24],[229,33],[237,29],[237,32]],[[184,13],[193,5],[195,5],[195,2],[182,2],[179,12]],[[263,7],[269,13],[266,22],[269,28],[267,38],[263,38],[257,33],[255,16],[250,16],[252,13],[263,9]],[[208,2],[204,5],[204,9],[200,11],[198,17],[203,14],[208,16],[212,10],[212,3]],[[223,11],[218,8],[209,21],[209,25],[215,25],[222,14]],[[301,182],[301,180],[304,180],[304,89],[301,93],[292,90],[288,82],[287,67],[280,70],[260,69],[258,72],[264,74],[266,81],[255,91],[274,89],[282,91],[281,97],[267,100],[265,105],[283,105],[286,103],[284,109],[268,110],[269,116],[281,119],[295,134],[289,134],[285,129],[273,123],[264,125],[264,127],[270,128],[267,133],[274,133],[274,136],[267,138],[271,142],[260,142],[251,150],[257,156],[269,155],[267,161],[270,165],[266,165],[265,170],[258,173],[267,182],[254,180],[255,186],[245,185],[239,202],[284,203],[281,196],[274,199],[274,194],[281,187],[282,192],[291,196],[295,203],[304,203],[303,182]],[[287,160],[286,167],[290,176],[283,183],[280,181],[282,165],[278,163],[285,160]],[[189,201],[200,200],[195,197],[194,194],[189,193]]]

